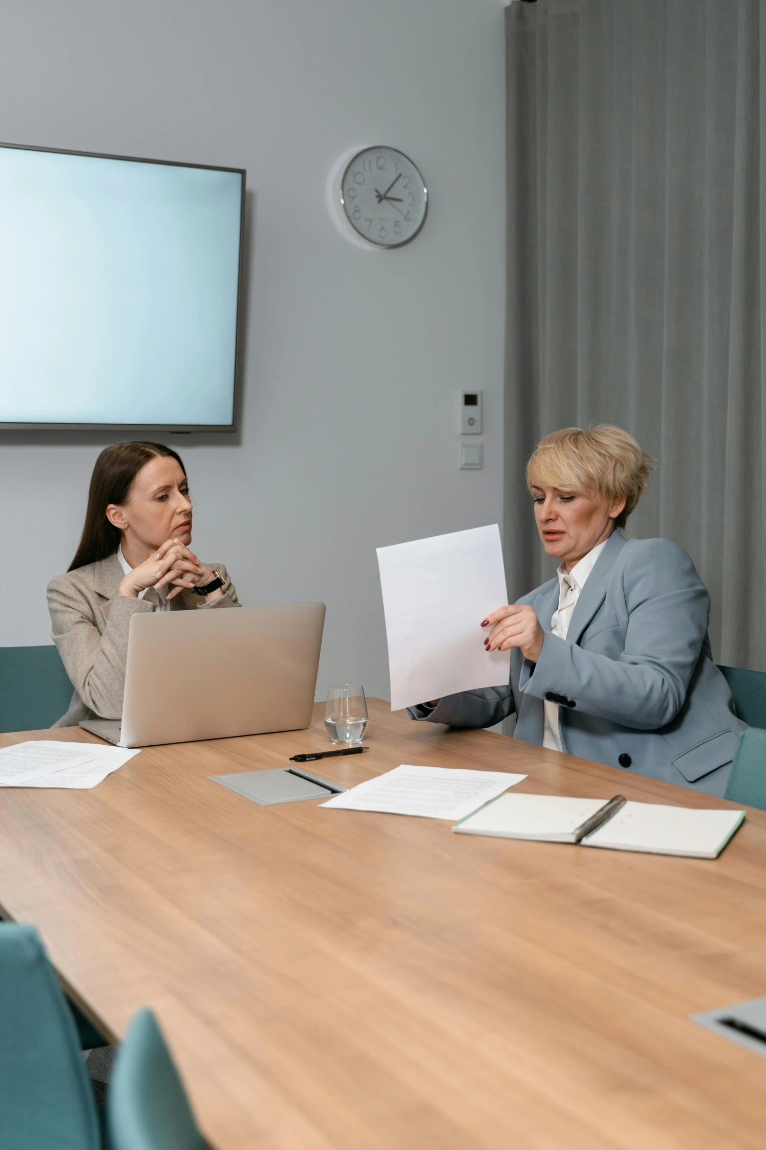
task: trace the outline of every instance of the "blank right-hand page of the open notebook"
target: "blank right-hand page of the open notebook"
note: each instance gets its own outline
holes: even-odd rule
[[[583,846],[715,858],[744,819],[744,811],[695,811],[686,806],[626,803]]]

